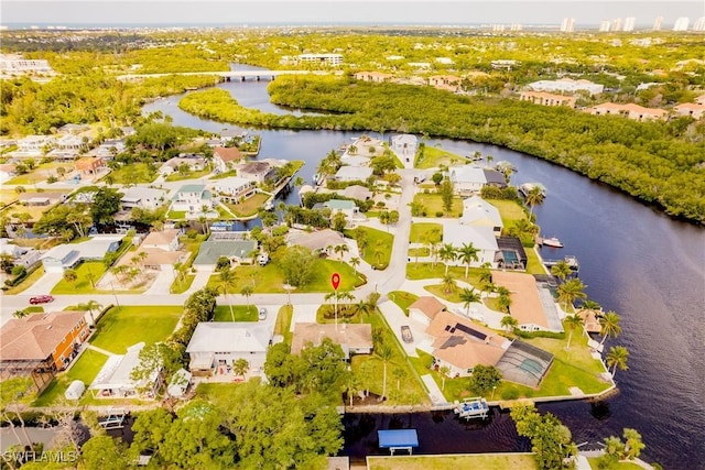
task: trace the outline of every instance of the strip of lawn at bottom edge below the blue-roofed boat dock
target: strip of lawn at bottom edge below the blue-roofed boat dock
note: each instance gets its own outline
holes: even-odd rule
[[[370,456],[367,458],[367,461],[369,470],[531,470],[538,468],[533,456],[529,453],[481,453],[475,456]]]

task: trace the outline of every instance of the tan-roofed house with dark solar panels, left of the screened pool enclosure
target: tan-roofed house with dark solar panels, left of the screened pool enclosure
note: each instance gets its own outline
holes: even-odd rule
[[[434,338],[430,352],[434,367],[447,367],[448,376],[469,376],[476,365],[495,365],[511,341],[471,320],[440,311],[426,328]]]

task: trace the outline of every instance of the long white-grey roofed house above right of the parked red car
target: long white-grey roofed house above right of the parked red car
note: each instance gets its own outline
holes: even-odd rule
[[[102,260],[109,252],[117,251],[122,243],[122,236],[95,236],[91,239],[52,248],[41,258],[46,273],[63,273],[76,267],[83,261]]]

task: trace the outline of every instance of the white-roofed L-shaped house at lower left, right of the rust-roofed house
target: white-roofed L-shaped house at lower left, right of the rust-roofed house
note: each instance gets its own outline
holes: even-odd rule
[[[88,390],[94,398],[153,398],[156,390],[159,370],[145,378],[135,380],[132,371],[140,364],[140,352],[144,342],[138,342],[128,348],[124,354],[112,354],[96,375]]]

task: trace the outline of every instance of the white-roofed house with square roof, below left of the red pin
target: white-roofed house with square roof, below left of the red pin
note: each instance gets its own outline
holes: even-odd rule
[[[259,323],[207,321],[196,326],[186,352],[188,370],[195,376],[225,374],[238,359],[250,373],[262,373],[272,341],[271,326]]]

